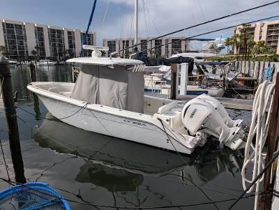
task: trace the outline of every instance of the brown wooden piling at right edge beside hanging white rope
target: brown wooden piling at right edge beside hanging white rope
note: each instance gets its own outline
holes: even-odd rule
[[[271,121],[269,124],[269,133],[266,137],[267,142],[267,153],[266,153],[266,163],[269,163],[271,158],[273,158],[273,153],[276,151],[278,147],[278,140],[279,140],[279,73],[277,73],[276,77],[276,87],[273,96],[273,107],[271,111]],[[274,187],[274,176],[276,176],[276,171],[272,172],[272,167],[269,167],[268,170],[264,173],[264,186],[262,191],[265,193],[269,189],[273,190]],[[262,200],[260,202],[260,209],[261,210],[269,210],[271,209],[271,202],[272,202],[272,193],[262,194]]]

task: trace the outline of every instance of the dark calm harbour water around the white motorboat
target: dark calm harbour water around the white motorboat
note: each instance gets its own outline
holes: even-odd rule
[[[71,200],[107,206],[162,207],[229,200],[242,193],[243,151],[208,145],[192,156],[153,149],[113,137],[86,132],[54,119],[42,103],[33,103],[27,91],[27,67],[12,67],[13,89],[18,91],[20,142],[27,181],[50,183]],[[37,69],[37,81],[70,82],[70,66]],[[229,110],[232,117],[250,112]],[[50,119],[40,119],[47,117]],[[242,117],[241,117],[242,116]],[[15,174],[8,147],[6,119],[0,108],[0,139],[12,180]],[[80,156],[75,156],[78,151]],[[84,157],[91,157],[91,160]],[[183,160],[181,160],[183,158]],[[0,177],[6,178],[0,155]],[[8,184],[0,181],[0,190]],[[233,201],[167,209],[227,209]],[[72,209],[94,207],[70,203]],[[253,198],[241,200],[235,209],[252,209]],[[107,209],[100,208],[99,209]],[[121,208],[119,208],[121,209]]]

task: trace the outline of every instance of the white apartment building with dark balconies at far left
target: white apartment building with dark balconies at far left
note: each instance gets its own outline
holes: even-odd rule
[[[0,46],[8,51],[10,59],[27,59],[33,57],[36,50],[39,59],[52,57],[61,60],[63,57],[77,57],[82,50],[85,31],[52,27],[44,24],[18,22],[3,19],[0,24]],[[90,31],[86,44],[96,43],[96,33]],[[91,52],[84,51],[84,56]]]

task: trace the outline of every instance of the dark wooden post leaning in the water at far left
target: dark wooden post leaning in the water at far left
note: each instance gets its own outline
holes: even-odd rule
[[[10,154],[12,156],[13,167],[15,170],[15,181],[26,183],[22,151],[20,149],[20,135],[17,126],[17,112],[13,101],[12,79],[10,76],[8,59],[6,57],[0,57],[0,82],[2,84],[1,91],[8,127]]]

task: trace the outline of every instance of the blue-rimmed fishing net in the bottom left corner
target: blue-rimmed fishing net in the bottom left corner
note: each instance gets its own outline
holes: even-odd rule
[[[27,183],[14,186],[0,193],[0,209],[70,209],[55,190],[45,183]]]

